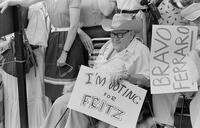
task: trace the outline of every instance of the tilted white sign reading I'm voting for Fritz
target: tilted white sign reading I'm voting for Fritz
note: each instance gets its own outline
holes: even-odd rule
[[[107,73],[81,66],[68,107],[119,128],[134,128],[146,90],[129,82],[110,84]]]

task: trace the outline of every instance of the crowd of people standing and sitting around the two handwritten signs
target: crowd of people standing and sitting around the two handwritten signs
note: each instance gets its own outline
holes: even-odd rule
[[[88,66],[94,50],[93,38],[109,37],[93,69],[109,72],[114,85],[126,80],[149,89],[152,25],[197,26],[200,35],[199,0],[3,0],[1,13],[17,4],[29,7],[25,33],[37,60],[36,73],[31,68],[26,74],[29,128],[115,128],[67,108],[80,66]],[[0,43],[12,41],[10,36],[0,38]],[[198,85],[199,43],[197,40],[187,55],[194,64],[190,68],[195,68],[189,70],[197,71],[191,74],[192,80]],[[20,128],[17,77],[4,68],[1,75],[5,128]],[[49,85],[64,85],[63,95],[53,103],[45,96],[44,79]],[[136,128],[175,128],[174,114],[181,94],[147,95],[153,113],[138,121]],[[197,91],[190,103],[193,128],[200,126],[199,106]]]

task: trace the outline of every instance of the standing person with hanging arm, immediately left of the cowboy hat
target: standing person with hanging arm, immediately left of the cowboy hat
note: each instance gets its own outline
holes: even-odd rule
[[[98,0],[82,0],[78,34],[89,53],[93,50],[93,38],[109,37],[109,33],[101,27],[101,21],[105,18],[99,9]]]

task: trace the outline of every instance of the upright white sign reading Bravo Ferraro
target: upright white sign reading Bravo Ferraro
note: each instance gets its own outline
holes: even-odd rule
[[[197,40],[197,27],[153,25],[151,93],[197,91],[192,83],[187,55]]]

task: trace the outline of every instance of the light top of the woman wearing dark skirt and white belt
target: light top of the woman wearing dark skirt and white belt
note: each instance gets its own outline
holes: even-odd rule
[[[46,0],[51,24],[63,28],[70,26],[69,8],[80,8],[81,0]]]

